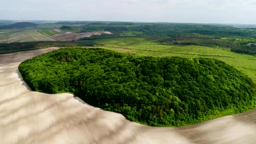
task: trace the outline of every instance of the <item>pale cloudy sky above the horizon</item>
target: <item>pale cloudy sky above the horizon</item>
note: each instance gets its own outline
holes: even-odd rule
[[[0,19],[256,24],[256,0],[1,0]]]

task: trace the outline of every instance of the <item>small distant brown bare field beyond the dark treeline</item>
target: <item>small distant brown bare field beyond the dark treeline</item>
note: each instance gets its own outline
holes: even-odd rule
[[[88,33],[72,33],[66,32],[62,34],[53,35],[52,38],[56,40],[63,40],[63,41],[72,41],[78,40],[85,37],[91,37],[92,35],[101,35],[101,34],[112,34],[108,31],[101,31],[101,32],[88,32]]]

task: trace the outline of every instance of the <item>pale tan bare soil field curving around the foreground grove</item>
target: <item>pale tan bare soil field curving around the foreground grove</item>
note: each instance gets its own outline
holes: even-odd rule
[[[32,92],[25,59],[57,48],[0,55],[0,143],[255,143],[256,110],[190,127],[147,127],[72,94]]]

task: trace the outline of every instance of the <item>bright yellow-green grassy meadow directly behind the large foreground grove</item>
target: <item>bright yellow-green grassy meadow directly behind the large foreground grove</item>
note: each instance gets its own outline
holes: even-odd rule
[[[256,57],[235,53],[223,47],[197,45],[163,45],[145,38],[126,37],[98,39],[93,41],[98,47],[138,56],[216,58],[242,71],[256,82]],[[103,45],[103,46],[102,46]]]

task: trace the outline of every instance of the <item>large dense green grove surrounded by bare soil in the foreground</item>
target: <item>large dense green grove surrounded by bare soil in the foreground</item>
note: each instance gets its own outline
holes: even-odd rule
[[[35,91],[71,92],[90,105],[152,126],[199,123],[255,105],[253,81],[217,59],[67,48],[28,59],[19,70]]]

